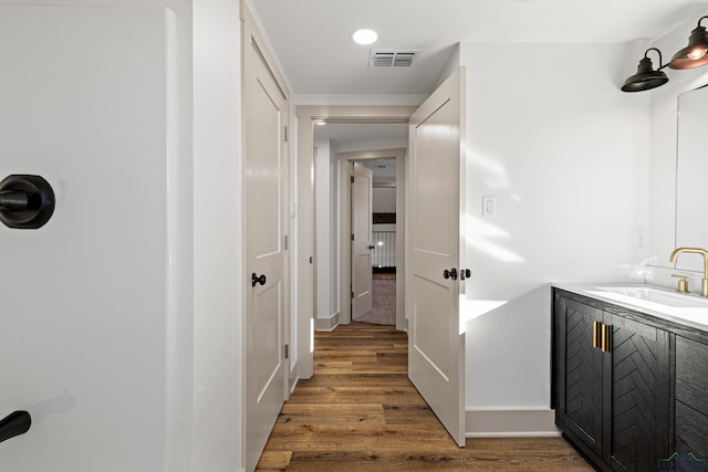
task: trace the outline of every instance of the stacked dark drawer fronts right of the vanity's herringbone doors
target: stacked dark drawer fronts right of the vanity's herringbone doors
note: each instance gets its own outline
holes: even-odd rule
[[[708,460],[708,345],[676,336],[676,452]]]

